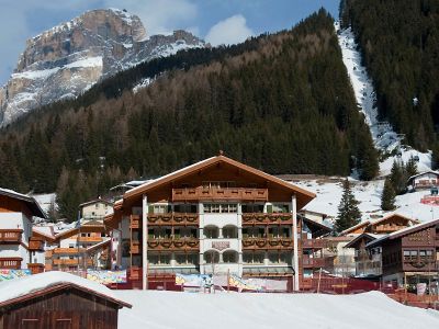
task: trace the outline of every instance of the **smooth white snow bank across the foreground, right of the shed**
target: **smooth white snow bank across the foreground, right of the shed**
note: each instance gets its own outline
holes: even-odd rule
[[[379,292],[358,295],[194,294],[115,291],[133,304],[119,328],[439,328],[439,313],[404,306]]]

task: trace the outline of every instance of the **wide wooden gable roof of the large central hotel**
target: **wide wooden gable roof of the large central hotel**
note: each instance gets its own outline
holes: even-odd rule
[[[209,168],[209,167],[215,166],[217,163],[222,163],[222,162],[223,163],[227,163],[229,166],[233,166],[235,168],[238,168],[238,169],[240,169],[240,170],[243,170],[245,172],[248,172],[248,173],[258,175],[260,178],[263,178],[264,180],[267,180],[267,181],[269,181],[271,183],[274,183],[275,185],[278,185],[280,188],[283,188],[285,190],[291,191],[292,193],[297,194],[297,209],[302,208],[308,202],[311,202],[314,197],[316,197],[316,194],[314,194],[313,192],[306,191],[306,190],[304,190],[302,188],[299,188],[299,186],[296,186],[296,185],[294,185],[294,184],[292,184],[290,182],[286,182],[284,180],[281,180],[281,179],[277,178],[277,177],[268,174],[268,173],[266,173],[266,172],[263,172],[261,170],[251,168],[251,167],[249,167],[247,164],[240,163],[240,162],[235,161],[235,160],[233,160],[230,158],[227,158],[227,157],[225,157],[223,155],[219,155],[219,156],[207,158],[207,159],[202,160],[200,162],[190,164],[190,166],[184,167],[184,168],[182,168],[180,170],[173,171],[173,172],[168,173],[168,174],[166,174],[164,177],[160,177],[160,178],[158,178],[156,180],[149,181],[149,182],[147,182],[145,184],[142,184],[142,185],[137,186],[137,188],[134,188],[134,189],[127,191],[124,194],[123,200],[125,201],[125,200],[130,200],[132,197],[138,197],[142,194],[147,193],[147,192],[149,192],[149,191],[151,191],[151,190],[154,190],[154,189],[156,189],[156,188],[158,188],[158,186],[160,186],[162,184],[172,182],[173,180],[177,180],[177,179],[181,179],[181,178],[188,177],[188,175],[196,172],[198,170],[205,169],[205,168]]]

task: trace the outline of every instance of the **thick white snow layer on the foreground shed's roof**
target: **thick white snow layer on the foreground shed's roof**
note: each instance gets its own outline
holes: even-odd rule
[[[0,282],[0,303],[42,291],[60,283],[72,283],[110,298],[120,299],[114,295],[113,291],[102,284],[70,273],[50,271]]]

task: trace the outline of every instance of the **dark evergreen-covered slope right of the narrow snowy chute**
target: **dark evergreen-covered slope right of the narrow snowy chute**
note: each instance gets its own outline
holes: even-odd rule
[[[341,1],[376,91],[380,121],[420,150],[437,149],[439,5],[437,1]]]

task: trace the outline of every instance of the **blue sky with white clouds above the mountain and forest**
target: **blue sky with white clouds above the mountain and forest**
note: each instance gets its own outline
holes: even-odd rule
[[[137,14],[147,34],[189,30],[213,45],[290,29],[320,7],[334,16],[339,0],[0,0],[0,84],[16,66],[27,38],[100,8]]]

